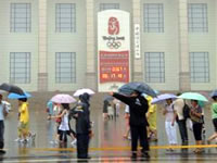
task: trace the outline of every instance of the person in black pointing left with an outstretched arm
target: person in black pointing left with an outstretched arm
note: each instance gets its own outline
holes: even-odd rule
[[[138,91],[133,91],[130,97],[116,92],[111,92],[111,96],[129,105],[132,159],[137,158],[137,145],[139,139],[142,147],[142,156],[150,158],[148,153],[150,148],[146,136],[146,126],[149,126],[149,124],[145,116],[149,109],[148,100]]]

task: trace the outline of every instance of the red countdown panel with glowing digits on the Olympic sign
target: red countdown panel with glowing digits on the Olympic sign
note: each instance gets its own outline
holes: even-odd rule
[[[129,52],[100,51],[100,83],[129,80]]]

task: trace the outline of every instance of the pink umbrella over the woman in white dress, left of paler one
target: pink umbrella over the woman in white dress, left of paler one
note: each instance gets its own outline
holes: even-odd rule
[[[76,99],[66,93],[59,93],[52,97],[51,101],[55,103],[74,103],[76,102]]]

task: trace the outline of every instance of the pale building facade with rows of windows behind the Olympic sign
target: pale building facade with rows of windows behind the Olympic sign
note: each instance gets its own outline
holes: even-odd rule
[[[217,87],[216,0],[0,0],[0,84],[99,90],[98,13],[105,10],[129,13],[130,82],[169,91]]]

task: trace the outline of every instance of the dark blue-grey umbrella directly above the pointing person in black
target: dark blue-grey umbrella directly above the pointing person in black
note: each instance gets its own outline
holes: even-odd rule
[[[133,91],[139,91],[141,93],[146,93],[152,97],[156,97],[156,92],[146,84],[133,82],[123,85],[118,91],[124,95],[131,95]]]

